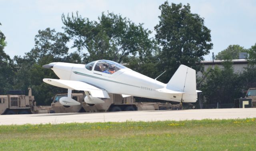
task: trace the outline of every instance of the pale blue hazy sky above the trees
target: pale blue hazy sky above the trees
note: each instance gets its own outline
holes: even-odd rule
[[[6,36],[6,54],[24,56],[34,47],[38,30],[46,28],[63,32],[61,15],[79,12],[84,18],[98,20],[102,12],[114,12],[135,24],[156,32],[159,6],[166,0],[0,0],[0,30]],[[211,60],[212,52],[238,44],[246,49],[256,43],[256,0],[168,0],[169,4],[187,4],[191,12],[204,18],[211,30],[213,49],[204,56]],[[71,44],[70,44],[71,45]],[[72,52],[74,50],[70,50]]]

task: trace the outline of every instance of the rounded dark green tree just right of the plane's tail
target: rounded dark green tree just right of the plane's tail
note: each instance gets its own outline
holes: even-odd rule
[[[202,84],[201,90],[206,104],[234,103],[234,98],[242,96],[243,83],[240,75],[234,73],[231,62],[224,62],[222,66],[223,69],[218,66],[211,69]]]

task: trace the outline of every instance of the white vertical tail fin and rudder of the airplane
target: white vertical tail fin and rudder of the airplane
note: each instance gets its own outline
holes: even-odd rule
[[[196,70],[180,65],[167,83],[166,89],[184,92],[182,94],[183,102],[196,102]]]

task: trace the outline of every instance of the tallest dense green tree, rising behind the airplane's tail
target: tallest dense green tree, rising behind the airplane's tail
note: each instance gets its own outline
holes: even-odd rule
[[[164,2],[159,9],[159,24],[155,26],[156,40],[162,50],[159,54],[160,67],[167,70],[162,76],[168,82],[170,77],[184,64],[197,71],[202,69],[198,63],[209,54],[213,44],[210,30],[204,26],[204,19],[190,12],[190,5],[168,4]]]

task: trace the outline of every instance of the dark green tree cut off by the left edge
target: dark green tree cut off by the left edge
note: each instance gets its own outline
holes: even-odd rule
[[[0,25],[2,25],[0,23]],[[4,33],[0,30],[0,94],[12,89],[14,78],[14,66],[10,56],[4,52],[6,46]]]

